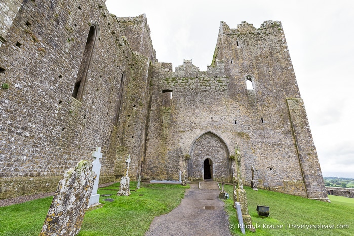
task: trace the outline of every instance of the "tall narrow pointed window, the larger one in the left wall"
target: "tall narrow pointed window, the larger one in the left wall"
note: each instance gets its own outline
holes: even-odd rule
[[[81,101],[83,91],[86,82],[87,71],[89,70],[92,52],[96,41],[96,27],[92,25],[90,27],[89,35],[87,36],[86,45],[81,59],[80,67],[78,68],[75,87],[72,92],[72,96]]]

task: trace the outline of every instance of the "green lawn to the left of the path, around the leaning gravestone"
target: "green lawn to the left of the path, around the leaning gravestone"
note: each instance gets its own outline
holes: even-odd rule
[[[87,211],[80,234],[84,235],[144,235],[155,216],[166,214],[179,205],[187,187],[168,184],[145,184],[131,195],[117,196],[119,183],[99,188],[102,208]],[[112,198],[113,202],[103,201]],[[42,229],[52,197],[0,207],[0,235],[38,235]]]

